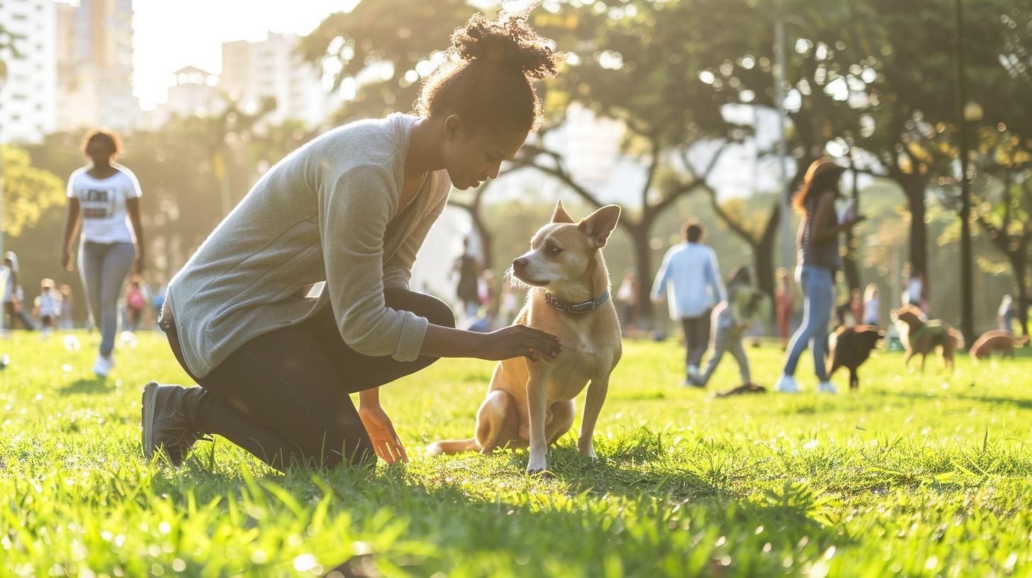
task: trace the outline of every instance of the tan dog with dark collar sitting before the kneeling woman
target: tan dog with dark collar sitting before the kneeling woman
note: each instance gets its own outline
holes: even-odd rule
[[[427,453],[529,447],[527,472],[544,471],[548,446],[573,426],[574,398],[590,381],[577,449],[595,459],[591,436],[622,352],[600,250],[619,217],[620,207],[611,204],[575,223],[562,201],[556,204],[552,222],[534,235],[530,251],[513,260],[510,274],[529,287],[515,323],[559,338],[566,349],[553,361],[501,361],[477,411],[475,437],[430,444]]]

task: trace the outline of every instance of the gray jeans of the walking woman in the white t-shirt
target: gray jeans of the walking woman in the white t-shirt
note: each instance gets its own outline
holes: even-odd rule
[[[100,327],[100,354],[105,357],[115,351],[119,295],[135,259],[136,247],[131,243],[84,243],[78,250],[83,290],[93,323]]]

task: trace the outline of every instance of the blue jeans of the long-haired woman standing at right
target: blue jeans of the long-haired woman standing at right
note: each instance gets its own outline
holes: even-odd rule
[[[835,298],[832,269],[803,266],[803,324],[792,336],[788,354],[784,359],[784,374],[796,374],[799,357],[809,342],[813,342],[813,371],[820,381],[828,380],[825,358],[828,356],[828,323],[832,319],[832,301]]]

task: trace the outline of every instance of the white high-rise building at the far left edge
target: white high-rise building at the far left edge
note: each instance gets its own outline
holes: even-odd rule
[[[53,0],[0,0],[0,142],[39,142],[54,130],[55,11]]]

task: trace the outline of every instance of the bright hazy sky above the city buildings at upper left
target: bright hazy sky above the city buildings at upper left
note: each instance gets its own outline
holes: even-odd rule
[[[144,109],[164,102],[171,73],[192,65],[222,72],[222,43],[267,32],[308,34],[355,0],[134,0],[136,96]]]

